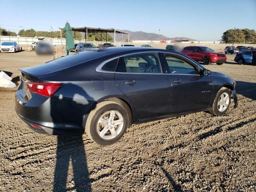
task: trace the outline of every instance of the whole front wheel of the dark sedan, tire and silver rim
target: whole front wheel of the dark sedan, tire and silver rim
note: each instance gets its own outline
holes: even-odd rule
[[[228,88],[222,87],[214,99],[210,113],[216,116],[223,115],[228,110],[230,100],[230,90]]]

